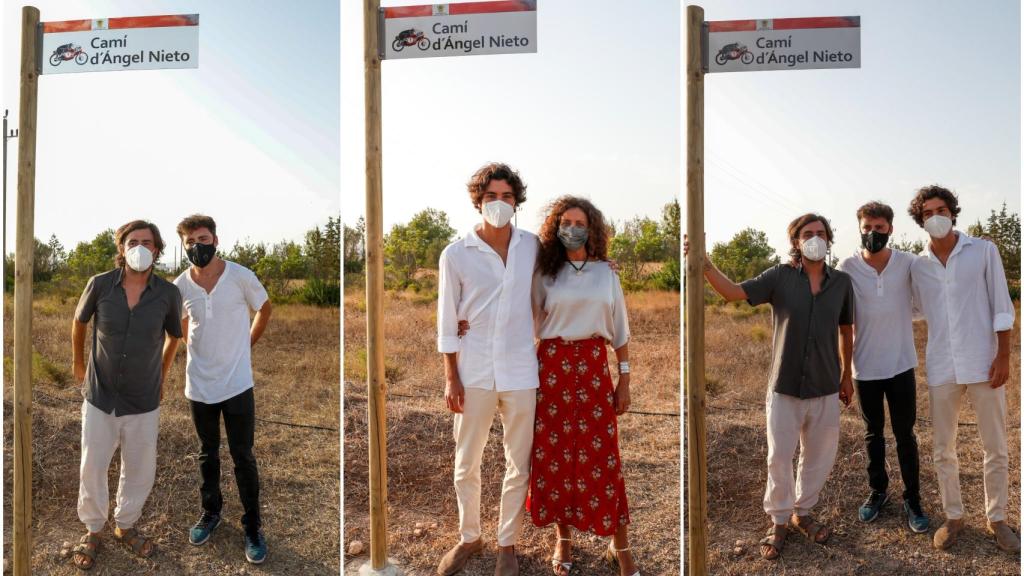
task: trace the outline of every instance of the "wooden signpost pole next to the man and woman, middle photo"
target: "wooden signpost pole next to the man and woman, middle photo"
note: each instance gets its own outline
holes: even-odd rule
[[[370,564],[359,574],[401,572],[387,558],[387,426],[384,379],[384,207],[381,152],[380,0],[362,2],[367,122],[367,396],[370,422]]]

